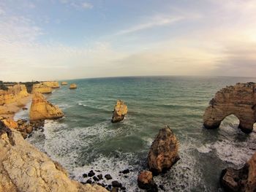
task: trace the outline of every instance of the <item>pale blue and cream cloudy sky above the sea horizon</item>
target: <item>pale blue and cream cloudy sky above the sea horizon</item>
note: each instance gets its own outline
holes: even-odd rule
[[[0,80],[255,74],[256,0],[0,0]]]

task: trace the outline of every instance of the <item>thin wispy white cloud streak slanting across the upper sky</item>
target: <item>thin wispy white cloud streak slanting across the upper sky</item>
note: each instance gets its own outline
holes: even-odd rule
[[[122,34],[130,34],[137,31],[146,30],[148,28],[154,28],[159,26],[168,26],[172,23],[176,23],[178,20],[182,20],[183,17],[181,16],[162,16],[157,15],[153,18],[148,18],[146,22],[140,23],[135,26],[131,26],[129,28],[123,29],[121,31],[118,31],[116,35],[122,35]],[[148,21],[149,20],[149,21]]]

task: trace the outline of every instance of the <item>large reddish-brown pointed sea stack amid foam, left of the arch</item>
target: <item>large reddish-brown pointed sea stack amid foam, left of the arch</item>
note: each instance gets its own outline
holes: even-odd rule
[[[178,139],[176,139],[170,127],[165,126],[159,131],[149,150],[149,169],[153,174],[159,174],[170,169],[179,159]]]

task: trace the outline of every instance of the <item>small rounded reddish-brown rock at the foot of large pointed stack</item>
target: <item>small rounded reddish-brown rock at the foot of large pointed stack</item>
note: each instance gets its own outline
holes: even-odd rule
[[[157,185],[154,183],[153,174],[149,171],[142,171],[138,175],[139,188],[146,189],[146,191],[158,191]]]

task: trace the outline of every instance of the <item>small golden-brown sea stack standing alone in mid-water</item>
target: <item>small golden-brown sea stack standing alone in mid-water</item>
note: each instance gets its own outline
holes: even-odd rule
[[[124,104],[124,101],[117,100],[116,106],[113,110],[112,123],[117,123],[121,120],[124,120],[124,116],[127,115],[127,105]]]

